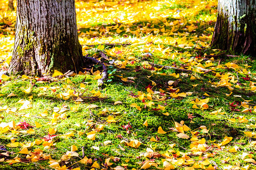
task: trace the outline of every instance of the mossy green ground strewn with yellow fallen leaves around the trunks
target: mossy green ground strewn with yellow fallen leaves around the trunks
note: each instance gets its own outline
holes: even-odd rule
[[[0,6],[4,73],[15,12]],[[255,56],[209,49],[217,1],[76,1],[76,10],[83,53],[104,52],[109,79],[98,88],[98,65],[1,75],[0,169],[256,168]]]

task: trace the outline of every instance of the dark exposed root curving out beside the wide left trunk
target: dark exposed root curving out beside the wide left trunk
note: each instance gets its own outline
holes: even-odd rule
[[[100,53],[101,56],[102,56],[102,53]],[[104,81],[108,79],[108,68],[106,67],[105,63],[102,63],[102,62],[98,61],[97,59],[95,59],[93,57],[88,57],[88,56],[89,56],[89,54],[86,54],[86,56],[84,57],[84,62],[85,63],[88,63],[86,61],[89,60],[89,61],[91,61],[91,63],[98,64],[98,65],[102,66],[102,69],[103,69],[103,71],[101,73],[102,78],[98,79],[98,86],[102,86],[104,84]]]

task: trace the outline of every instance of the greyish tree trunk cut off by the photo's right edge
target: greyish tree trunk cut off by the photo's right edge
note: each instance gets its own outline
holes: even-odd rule
[[[255,0],[219,0],[212,48],[233,53],[256,52]]]

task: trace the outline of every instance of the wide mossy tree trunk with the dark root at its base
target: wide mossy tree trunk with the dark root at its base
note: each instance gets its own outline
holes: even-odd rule
[[[9,73],[48,75],[79,71],[75,0],[17,0],[16,32]]]

